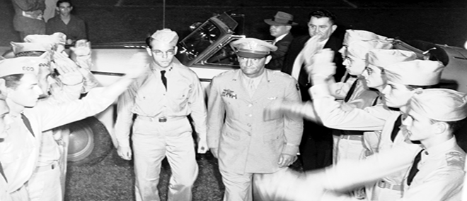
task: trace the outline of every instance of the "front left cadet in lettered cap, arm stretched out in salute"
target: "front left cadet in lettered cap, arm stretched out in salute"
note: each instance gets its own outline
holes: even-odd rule
[[[44,63],[44,59],[37,56],[0,61],[1,94],[5,97],[10,109],[8,116],[12,120],[6,130],[8,135],[0,142],[0,162],[8,178],[8,193],[13,200],[29,200],[32,197],[28,195],[33,188],[28,181],[35,171],[59,168],[57,163],[42,166],[41,169],[36,167],[40,164],[38,157],[43,145],[42,131],[103,111],[144,71],[144,68],[133,67],[129,63],[133,67],[132,71],[108,87],[91,90],[82,99],[63,104],[38,103],[42,90],[38,86],[37,73]],[[62,197],[45,200],[62,200]]]

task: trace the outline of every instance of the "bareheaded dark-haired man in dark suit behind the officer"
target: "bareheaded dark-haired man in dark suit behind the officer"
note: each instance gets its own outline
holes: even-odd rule
[[[338,50],[342,47],[345,32],[336,31],[335,15],[330,11],[317,10],[309,15],[309,35],[296,37],[289,46],[285,56],[282,72],[292,75],[299,83],[301,98],[303,101],[311,100],[308,89],[311,87],[308,74],[304,67],[304,58],[312,55],[304,55],[302,49],[306,42],[318,35],[318,47],[330,48],[334,51],[333,62],[337,65],[335,80],[340,81],[345,74],[345,66],[342,66],[342,56]],[[330,128],[318,125],[312,121],[304,120],[304,135],[300,145],[301,163],[304,170],[319,169],[333,162],[333,136]]]

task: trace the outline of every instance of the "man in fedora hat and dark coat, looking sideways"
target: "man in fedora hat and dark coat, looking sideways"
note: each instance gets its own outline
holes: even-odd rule
[[[280,70],[284,64],[285,54],[287,54],[290,42],[294,39],[290,30],[293,25],[298,24],[294,23],[294,16],[282,11],[277,11],[276,15],[272,19],[265,19],[265,23],[270,25],[269,32],[273,37],[275,37],[272,44],[277,46],[277,50],[271,52],[270,55],[272,56],[272,59],[266,64],[266,68],[271,70]]]

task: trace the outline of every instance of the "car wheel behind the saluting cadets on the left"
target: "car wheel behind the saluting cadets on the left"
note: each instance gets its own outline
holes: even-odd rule
[[[108,130],[91,116],[69,125],[67,160],[71,165],[94,165],[102,161],[112,149]]]

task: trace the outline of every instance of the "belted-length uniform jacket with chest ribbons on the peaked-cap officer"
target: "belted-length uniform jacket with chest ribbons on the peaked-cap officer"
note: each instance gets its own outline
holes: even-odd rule
[[[267,114],[275,100],[300,102],[290,75],[266,69],[253,97],[241,81],[242,71],[213,78],[208,96],[207,144],[219,148],[219,168],[235,173],[272,173],[280,154],[298,151],[303,121],[299,116]],[[225,121],[224,121],[225,117]]]

